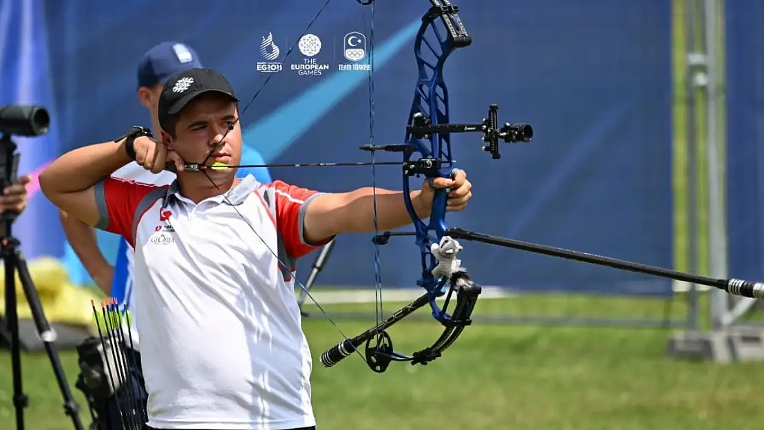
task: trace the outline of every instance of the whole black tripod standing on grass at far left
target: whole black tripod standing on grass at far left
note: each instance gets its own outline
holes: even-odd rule
[[[11,140],[11,136],[3,134],[0,138],[0,189],[5,189],[15,183],[18,179],[19,154],[16,153],[16,144]],[[5,265],[5,331],[8,345],[11,348],[11,371],[13,373],[13,406],[16,412],[16,428],[24,430],[24,408],[28,406],[29,399],[24,394],[21,381],[21,340],[18,337],[18,314],[16,312],[16,280],[15,275],[21,280],[21,287],[24,290],[24,296],[27,298],[29,308],[34,319],[34,325],[40,340],[43,341],[45,351],[50,364],[53,366],[53,373],[56,376],[58,387],[63,395],[63,409],[66,415],[69,415],[76,430],[83,430],[83,424],[79,421],[79,404],[72,396],[69,383],[66,381],[66,375],[61,367],[61,361],[56,349],[56,332],[50,327],[50,323],[45,317],[40,297],[37,296],[37,288],[32,282],[29,274],[27,261],[18,247],[21,243],[11,235],[11,225],[18,214],[5,212],[0,215],[0,259]]]

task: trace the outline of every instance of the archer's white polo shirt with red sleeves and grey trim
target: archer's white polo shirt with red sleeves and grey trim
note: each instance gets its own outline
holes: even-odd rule
[[[148,425],[316,425],[293,276],[296,258],[316,249],[305,243],[303,219],[319,193],[247,176],[227,199],[199,204],[177,182],[108,178],[95,196],[98,227],[135,248]]]

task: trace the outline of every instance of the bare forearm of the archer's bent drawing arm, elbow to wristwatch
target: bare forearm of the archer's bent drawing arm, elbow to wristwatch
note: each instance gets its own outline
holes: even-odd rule
[[[131,161],[125,139],[77,148],[40,173],[40,187],[56,193],[83,191]]]

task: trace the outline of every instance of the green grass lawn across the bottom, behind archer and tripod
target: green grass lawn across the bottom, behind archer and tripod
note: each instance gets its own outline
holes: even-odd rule
[[[681,296],[672,313],[685,313]],[[387,312],[399,304],[389,303]],[[327,306],[331,315],[370,306]],[[313,357],[313,401],[321,428],[449,428],[479,430],[746,430],[764,428],[764,409],[753,377],[764,364],[715,365],[664,356],[669,331],[620,328],[549,328],[474,325],[445,356],[426,367],[393,364],[368,370],[358,357],[331,369],[318,355],[340,337],[316,309],[305,330]],[[594,297],[524,297],[484,300],[478,312],[611,315],[661,318],[655,300]],[[422,311],[426,312],[426,311]],[[371,324],[340,321],[348,335]],[[439,335],[434,322],[402,322],[390,331],[397,351],[428,346]],[[61,354],[73,383],[76,360]],[[0,428],[11,428],[11,374],[0,353]],[[45,354],[24,354],[30,396],[28,427],[71,428]],[[76,391],[76,390],[75,390]],[[76,391],[77,399],[84,405]],[[81,414],[89,422],[86,411]],[[7,424],[7,425],[6,425]]]

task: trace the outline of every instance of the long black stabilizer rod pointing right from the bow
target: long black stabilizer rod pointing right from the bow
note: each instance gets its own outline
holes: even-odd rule
[[[752,299],[764,299],[764,283],[756,283],[746,280],[729,279],[720,280],[707,276],[693,275],[691,273],[669,270],[662,267],[648,266],[647,264],[633,263],[616,258],[603,257],[601,255],[587,254],[580,251],[571,251],[558,247],[533,244],[530,242],[516,241],[514,239],[500,238],[490,234],[474,233],[461,228],[448,228],[445,234],[455,239],[481,242],[484,244],[498,245],[500,247],[513,248],[520,251],[532,252],[533,254],[548,255],[549,257],[564,258],[565,260],[581,261],[582,263],[596,264],[597,266],[612,267],[618,270],[644,273],[646,275],[659,276],[671,280],[685,281],[714,288],[724,289],[727,293],[735,296],[750,297]]]

